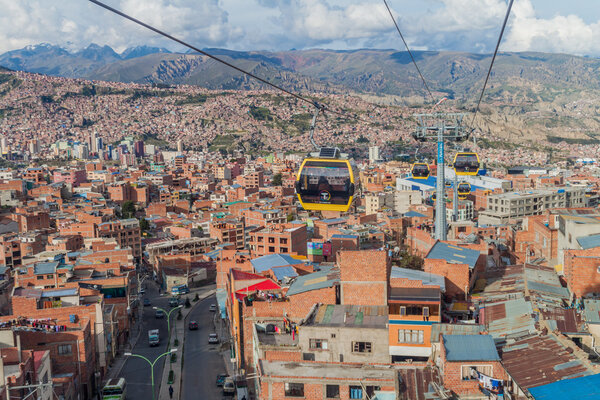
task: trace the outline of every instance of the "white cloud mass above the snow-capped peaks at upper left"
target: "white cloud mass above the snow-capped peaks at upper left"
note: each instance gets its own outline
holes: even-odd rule
[[[225,46],[239,37],[228,24],[219,0],[107,0],[150,25],[199,47]],[[117,50],[149,44],[171,45],[133,22],[82,0],[0,0],[0,53],[29,44],[48,42],[82,48],[94,42]]]

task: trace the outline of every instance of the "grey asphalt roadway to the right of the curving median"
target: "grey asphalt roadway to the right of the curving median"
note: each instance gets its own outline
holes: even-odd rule
[[[221,345],[208,344],[208,335],[215,332],[213,318],[216,314],[209,311],[209,307],[216,303],[215,296],[210,296],[196,305],[189,315],[190,321],[198,322],[199,329],[186,330],[182,400],[223,398],[222,389],[215,385],[217,374],[226,372]],[[219,331],[217,333],[220,335]]]

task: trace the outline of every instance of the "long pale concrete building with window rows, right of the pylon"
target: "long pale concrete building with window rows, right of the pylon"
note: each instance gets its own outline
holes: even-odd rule
[[[578,188],[492,194],[488,196],[487,209],[479,213],[479,222],[502,225],[551,208],[584,207],[585,202],[585,190]]]

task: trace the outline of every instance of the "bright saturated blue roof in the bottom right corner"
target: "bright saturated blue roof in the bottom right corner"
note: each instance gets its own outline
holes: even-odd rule
[[[600,398],[600,374],[564,379],[548,385],[529,388],[535,400],[592,400]]]

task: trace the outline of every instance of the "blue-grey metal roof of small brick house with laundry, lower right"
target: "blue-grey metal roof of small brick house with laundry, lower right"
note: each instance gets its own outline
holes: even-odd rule
[[[446,335],[443,338],[448,361],[500,361],[490,335]]]

